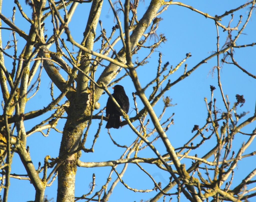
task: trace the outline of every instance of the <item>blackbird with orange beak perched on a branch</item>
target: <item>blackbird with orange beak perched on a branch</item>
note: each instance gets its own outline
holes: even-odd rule
[[[130,104],[129,98],[125,94],[124,87],[120,85],[115,85],[113,89],[114,93],[112,94],[112,96],[115,98],[116,102],[120,105],[122,110],[127,114]],[[109,117],[106,128],[119,128],[121,115],[121,112],[118,111],[118,108],[109,97],[106,105],[106,116]]]

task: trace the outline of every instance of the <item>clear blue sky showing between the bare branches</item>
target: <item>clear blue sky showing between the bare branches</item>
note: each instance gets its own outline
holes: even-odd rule
[[[23,10],[25,13],[31,17],[31,9],[25,3],[22,3]],[[211,16],[221,15],[225,13],[226,10],[230,10],[232,8],[236,8],[240,6],[243,2],[241,1],[182,1],[184,4],[188,4],[201,10],[203,12],[208,13]],[[4,1],[2,7],[2,13],[6,17],[12,16],[12,8],[14,6],[13,2]],[[140,2],[138,8],[138,19],[142,17],[144,12],[146,11],[148,6],[148,1]],[[77,10],[72,18],[72,21],[69,23],[69,29],[73,38],[80,42],[83,38],[83,32],[86,27],[88,15],[89,15],[90,3],[89,4],[79,4]],[[231,27],[236,26],[240,15],[243,15],[242,25],[247,18],[248,9],[244,8],[238,12],[234,13],[234,19],[231,22]],[[62,15],[64,11],[60,12]],[[156,52],[151,55],[148,59],[146,65],[140,67],[137,70],[138,77],[140,79],[142,87],[144,87],[152,78],[155,77],[157,66],[158,66],[158,54],[162,53],[162,64],[169,62],[170,65],[174,67],[182,61],[186,57],[186,53],[191,53],[192,57],[188,58],[185,64],[187,64],[188,70],[202,61],[204,58],[210,56],[213,52],[216,51],[216,26],[215,22],[212,19],[205,18],[204,16],[191,11],[188,8],[171,5],[168,9],[163,12],[158,17],[163,18],[163,20],[159,24],[159,28],[157,29],[157,34],[164,33],[167,41],[162,43],[156,49]],[[221,23],[225,26],[228,25],[230,20],[230,15],[226,16],[222,19]],[[255,10],[253,11],[252,18],[250,19],[246,29],[244,30],[244,34],[239,37],[237,40],[238,45],[250,44],[255,42]],[[51,18],[49,17],[46,20],[45,29],[47,31],[45,34],[48,34],[48,37],[52,34],[52,24],[50,23]],[[113,23],[114,17],[112,11],[110,10],[110,6],[108,1],[104,1],[102,13],[100,16],[100,20],[103,23],[103,28],[106,29],[107,34],[111,33],[112,27],[115,25]],[[20,29],[24,30],[27,34],[30,29],[29,23],[24,20],[18,9],[16,10],[16,20],[15,23]],[[5,23],[2,22],[2,27],[6,27]],[[12,35],[9,30],[1,30],[2,31],[2,41],[3,46],[6,45],[7,41],[12,40]],[[115,36],[119,33],[119,30],[116,31]],[[97,27],[98,36],[100,34],[100,26]],[[223,32],[221,28],[219,28],[220,34],[220,47],[222,47],[226,41],[227,32]],[[237,31],[233,31],[232,35],[236,35]],[[62,38],[66,40],[66,35],[62,34]],[[113,37],[115,38],[115,37]],[[24,40],[20,38],[17,34],[18,39],[18,55],[21,52],[21,48],[24,45]],[[70,50],[72,49],[72,45],[69,42],[66,42],[69,45]],[[99,49],[100,41],[95,43],[94,51]],[[153,40],[148,41],[146,45],[150,45],[153,43]],[[121,48],[121,41],[115,47],[116,50]],[[51,51],[56,51],[55,47],[52,46]],[[77,48],[74,48],[74,51],[77,51]],[[13,49],[9,49],[6,52],[9,54],[12,53]],[[138,54],[133,56],[133,62],[136,60],[136,57],[140,59],[143,58],[150,50],[142,50],[138,52]],[[256,74],[255,69],[255,47],[246,47],[242,49],[236,49],[234,57],[236,61],[240,64],[240,66],[246,68],[250,73]],[[222,55],[220,56],[222,58]],[[5,59],[5,65],[9,71],[12,68],[12,60],[9,58]],[[104,62],[104,64],[108,64]],[[167,68],[170,68],[170,65]],[[169,96],[172,98],[172,103],[177,104],[173,107],[167,109],[163,120],[169,117],[172,113],[174,115],[174,125],[171,125],[169,130],[167,131],[167,135],[173,145],[174,148],[181,147],[185,144],[185,142],[191,138],[193,134],[191,134],[191,130],[194,125],[203,126],[205,120],[207,118],[207,108],[204,101],[206,97],[208,101],[211,98],[210,85],[216,87],[214,91],[214,97],[217,99],[217,106],[220,110],[224,110],[224,105],[222,102],[222,98],[220,97],[220,90],[218,88],[217,82],[217,70],[213,71],[213,67],[217,65],[217,58],[214,57],[211,60],[207,61],[207,63],[201,65],[196,69],[188,78],[180,81],[178,84],[173,86],[165,96]],[[98,78],[103,71],[104,67],[98,67],[95,77]],[[175,81],[180,75],[184,72],[184,64],[175,72],[173,75],[169,77],[171,82]],[[125,70],[122,70],[119,75],[123,75]],[[38,73],[37,73],[38,74]],[[63,72],[64,75],[64,72]],[[67,78],[67,76],[63,76]],[[119,77],[119,76],[118,76]],[[117,78],[118,78],[117,77]],[[26,105],[26,112],[31,110],[41,109],[48,105],[51,101],[50,97],[50,79],[47,76],[46,72],[42,71],[42,79],[41,79],[41,87],[36,96],[29,100]],[[249,112],[245,117],[243,117],[240,122],[246,120],[248,117],[252,116],[254,113],[255,107],[255,80],[249,77],[247,74],[244,74],[240,69],[233,65],[224,64],[221,68],[221,82],[224,94],[228,94],[229,101],[231,106],[236,101],[236,94],[243,94],[246,102],[242,108],[238,107],[237,113],[242,113],[243,111]],[[130,99],[130,110],[129,116],[133,117],[136,112],[133,110],[134,104],[132,100],[132,92],[135,92],[135,88],[133,86],[132,80],[129,77],[123,79],[120,83],[123,85]],[[163,87],[166,85],[166,82],[163,84]],[[113,92],[111,88],[109,88],[110,92]],[[149,87],[146,91],[146,94],[149,95],[152,91],[152,88]],[[32,94],[32,93],[31,93]],[[57,87],[54,88],[54,96],[57,97],[60,94],[60,91]],[[108,99],[107,94],[103,94],[99,100],[100,109],[102,109],[106,100]],[[65,99],[61,102],[63,103]],[[138,107],[142,108],[142,103],[139,98],[137,98]],[[163,103],[160,100],[155,106],[154,110],[157,115],[160,115],[163,109]],[[2,111],[1,111],[2,112]],[[97,111],[95,111],[97,112]],[[95,113],[94,112],[94,113]],[[41,117],[35,118],[30,121],[25,122],[26,130],[28,131],[33,127],[33,125],[40,123],[44,118],[47,118],[49,114],[53,113],[49,112]],[[88,140],[86,142],[86,147],[90,148],[92,144],[92,140],[97,131],[97,125],[99,120],[92,121],[92,127],[90,129],[90,135],[88,136]],[[65,119],[59,121],[57,128],[59,130],[63,129],[65,124]],[[134,125],[137,126],[138,122],[134,122]],[[103,123],[105,126],[105,122]],[[152,125],[151,125],[152,126]],[[247,126],[243,129],[244,133],[251,133],[255,128],[256,124],[251,123],[250,126]],[[111,129],[110,130],[112,137],[116,142],[120,145],[130,145],[136,138],[136,135],[132,132],[129,126],[124,126],[118,130]],[[207,134],[207,133],[206,133]],[[157,134],[154,135],[154,137]],[[154,138],[150,137],[150,139]],[[237,134],[236,138],[233,141],[233,149],[237,151],[241,146],[242,142],[247,141],[249,137]],[[30,147],[30,155],[37,167],[37,163],[40,161],[44,162],[44,158],[46,155],[50,155],[51,157],[57,157],[59,153],[59,146],[61,141],[61,134],[57,133],[53,129],[51,130],[48,137],[42,136],[41,133],[35,133],[27,138],[27,145]],[[200,138],[194,140],[194,144],[200,141]],[[215,139],[208,140],[199,150],[196,152],[192,151],[190,155],[194,155],[195,153],[198,156],[203,156],[209,148],[212,148],[216,145]],[[254,144],[252,144],[247,150],[246,154],[254,151]],[[155,142],[155,147],[161,154],[166,153],[166,149],[164,148],[163,142],[158,140]],[[107,129],[104,127],[101,129],[100,137],[97,139],[97,142],[94,147],[94,153],[83,153],[81,160],[82,161],[108,161],[119,159],[122,153],[124,152],[123,148],[117,148],[113,145],[111,139],[107,134]],[[155,157],[154,153],[147,149],[145,151],[141,151],[138,153],[138,157]],[[187,163],[187,160],[182,160],[182,163]],[[152,174],[154,179],[157,182],[162,182],[162,187],[167,185],[168,178],[170,177],[167,173],[159,170],[155,165],[146,165],[142,164],[143,168]],[[186,164],[187,168],[190,164]],[[256,166],[256,161],[254,157],[249,157],[247,160],[243,160],[242,163],[238,163],[238,169],[235,170],[235,179],[233,184],[238,184],[242,177],[246,176],[248,172],[251,172]],[[123,165],[119,165],[117,170],[121,172]],[[96,184],[95,191],[98,191],[101,186],[106,182],[106,178],[109,175],[111,167],[107,168],[78,168],[77,170],[77,178],[76,178],[76,192],[75,196],[79,197],[83,194],[89,192],[89,184],[92,181],[92,173],[95,173],[96,176]],[[247,171],[247,172],[246,172]],[[12,165],[12,173],[16,174],[25,174],[26,171],[19,160],[18,155],[14,155],[13,165]],[[112,175],[112,179],[116,179],[116,175]],[[145,173],[141,172],[140,169],[136,165],[128,165],[128,169],[123,177],[123,180],[130,187],[134,187],[137,189],[151,189],[154,187],[153,182],[145,175]],[[232,188],[232,186],[231,186]],[[95,192],[94,191],[94,192]],[[176,192],[176,190],[171,191]],[[3,191],[1,192],[1,195]],[[120,197],[122,197],[122,201],[140,201],[141,199],[147,200],[153,197],[156,194],[155,191],[151,193],[135,193],[130,190],[127,190],[121,183],[119,183],[109,201],[120,201]],[[11,179],[11,186],[9,192],[9,201],[28,201],[34,200],[35,191],[33,185],[29,183],[29,181],[21,181],[17,179]],[[52,184],[51,187],[46,188],[45,195],[49,198],[54,198],[56,201],[57,195],[57,180]],[[176,196],[173,196],[173,200],[176,201]],[[169,200],[169,198],[167,197]],[[182,201],[186,201],[183,198]]]

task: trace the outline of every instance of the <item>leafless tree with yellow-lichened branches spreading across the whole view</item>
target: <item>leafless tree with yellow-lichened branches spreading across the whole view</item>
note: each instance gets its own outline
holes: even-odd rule
[[[226,95],[228,92],[223,92],[221,85],[221,67],[228,64],[242,70],[242,74],[256,78],[253,71],[250,72],[249,67],[240,66],[236,61],[236,57],[239,56],[234,55],[237,49],[246,51],[248,46],[255,45],[253,41],[247,44],[238,43],[246,26],[252,23],[250,19],[255,12],[255,0],[247,1],[222,15],[212,16],[181,2],[152,0],[146,10],[143,10],[140,6],[145,8],[145,5],[138,0],[126,0],[125,2],[109,0],[111,12],[115,16],[114,21],[111,22],[113,23],[111,33],[106,32],[109,25],[105,25],[104,28],[99,20],[103,9],[102,0],[27,0],[26,5],[15,0],[14,3],[23,20],[29,23],[30,28],[27,27],[29,31],[26,32],[22,29],[22,25],[15,23],[16,7],[13,8],[12,18],[0,13],[4,25],[1,29],[10,30],[12,33],[12,40],[5,47],[0,40],[0,83],[3,96],[3,114],[0,120],[3,201],[7,201],[8,198],[10,178],[29,180],[35,188],[35,201],[48,201],[45,198],[45,189],[52,185],[56,177],[58,179],[57,201],[68,202],[108,201],[118,183],[122,183],[134,192],[155,193],[150,201],[158,201],[161,197],[163,201],[172,200],[172,197],[177,197],[180,201],[182,196],[185,196],[188,201],[248,201],[256,195],[255,180],[252,180],[256,174],[255,166],[249,167],[250,171],[240,183],[232,184],[234,169],[237,169],[238,161],[254,156],[256,152],[246,153],[246,149],[254,140],[256,129],[250,133],[243,132],[243,128],[255,121],[256,109],[255,106],[251,106],[254,112],[251,116],[248,116],[246,112],[239,114],[245,98],[237,94],[236,102],[231,103]],[[0,7],[2,4],[1,0]],[[73,38],[74,34],[69,26],[76,9],[84,4],[90,6],[90,13],[83,39],[79,41]],[[152,54],[156,57],[156,49],[161,51],[160,45],[166,41],[166,37],[164,34],[157,34],[156,31],[162,20],[160,16],[169,6],[173,5],[184,7],[184,10],[191,9],[213,22],[217,37],[216,50],[210,56],[201,58],[190,69],[185,64],[192,56],[190,53],[184,53],[184,59],[173,67],[169,65],[169,62],[162,63],[160,52],[158,65],[152,72],[155,75],[154,78],[147,79],[147,84],[142,86],[137,69],[147,65]],[[25,7],[31,9],[30,15],[25,13]],[[233,17],[244,8],[248,9],[247,16],[240,16],[240,20],[232,26]],[[138,12],[140,15],[144,12],[140,19],[137,17]],[[230,19],[228,24],[222,23],[222,19],[227,18]],[[101,29],[99,34],[96,30],[97,26]],[[46,29],[53,29],[51,36],[44,34]],[[226,37],[224,44],[219,43],[219,30],[224,31],[222,33],[222,36],[225,34]],[[17,34],[19,40],[25,42],[23,47],[19,45],[22,43],[17,43]],[[94,47],[94,45],[99,46]],[[72,49],[77,51],[72,52]],[[137,57],[135,60],[134,55],[143,51],[148,54],[144,57]],[[183,79],[193,77],[191,73],[211,58],[215,58],[216,64],[212,67],[212,71],[216,71],[218,79],[215,86],[209,87],[210,96],[203,95],[209,96],[208,99],[205,98],[205,105],[202,106],[208,114],[205,117],[205,123],[195,125],[192,130],[195,132],[194,136],[183,138],[180,140],[181,147],[174,148],[170,136],[167,135],[172,133],[168,129],[174,124],[175,116],[172,113],[167,115],[166,112],[168,107],[175,104],[172,104],[172,99],[166,96],[166,92],[178,83],[186,82]],[[12,61],[12,67],[10,62],[6,61]],[[183,65],[185,70],[178,71]],[[99,74],[100,67],[104,70]],[[52,100],[42,109],[25,112],[27,102],[33,99],[38,90],[42,88],[40,86],[42,71],[46,71],[52,81],[50,88]],[[177,72],[180,76],[171,81],[170,76]],[[130,99],[130,105],[136,112],[133,117],[129,117],[120,108],[108,90],[108,87],[126,77],[132,80],[131,84],[136,90],[132,94],[133,100]],[[54,97],[54,86],[60,91],[57,97]],[[214,93],[216,88],[218,88],[219,95]],[[35,90],[34,93],[29,97],[33,90]],[[250,90],[255,93],[254,89]],[[136,138],[129,146],[123,146],[114,140],[109,130],[108,134],[114,145],[108,147],[122,148],[123,153],[120,158],[113,159],[110,156],[108,161],[104,162],[83,162],[80,160],[82,153],[90,155],[94,152],[94,145],[100,131],[104,130],[106,133],[104,125],[108,117],[104,116],[105,103],[100,105],[98,102],[103,92],[111,97],[122,113],[124,121],[121,126],[130,127],[136,134]],[[216,98],[221,98],[221,100]],[[159,100],[163,101],[161,113],[153,108]],[[137,105],[137,101],[142,105]],[[193,115],[188,112],[185,118],[193,119]],[[38,120],[41,120],[40,123]],[[61,120],[65,120],[63,131],[58,129]],[[92,129],[92,120],[98,121],[97,130]],[[28,121],[30,124],[26,125]],[[31,160],[27,139],[34,133],[48,136],[53,131],[52,129],[62,134],[59,156],[50,157],[49,153],[45,156],[44,163],[36,165]],[[240,148],[233,149],[232,142],[238,134],[242,134],[245,142],[241,143]],[[91,148],[86,148],[85,144],[89,136],[94,136],[94,139]],[[157,140],[162,141],[165,152],[162,151],[163,149],[160,151],[156,146]],[[193,144],[192,141],[197,143]],[[202,150],[201,148],[207,141],[211,141],[212,147]],[[138,153],[142,151],[151,151],[154,155],[151,158],[138,157]],[[15,153],[18,154],[26,169],[25,175],[11,172],[12,158]],[[182,159],[186,159],[183,164],[180,162]],[[121,172],[116,169],[120,164],[124,165]],[[122,179],[128,164],[136,165],[140,169],[139,172],[146,174],[152,180],[150,189],[132,188]],[[155,169],[166,173],[168,183],[165,187],[154,179],[149,170],[143,168],[145,164],[153,164]],[[93,174],[91,190],[75,197],[77,167],[111,167],[111,171],[105,184],[98,184],[98,186],[95,186],[97,176]],[[113,180],[113,177],[116,179]]]

